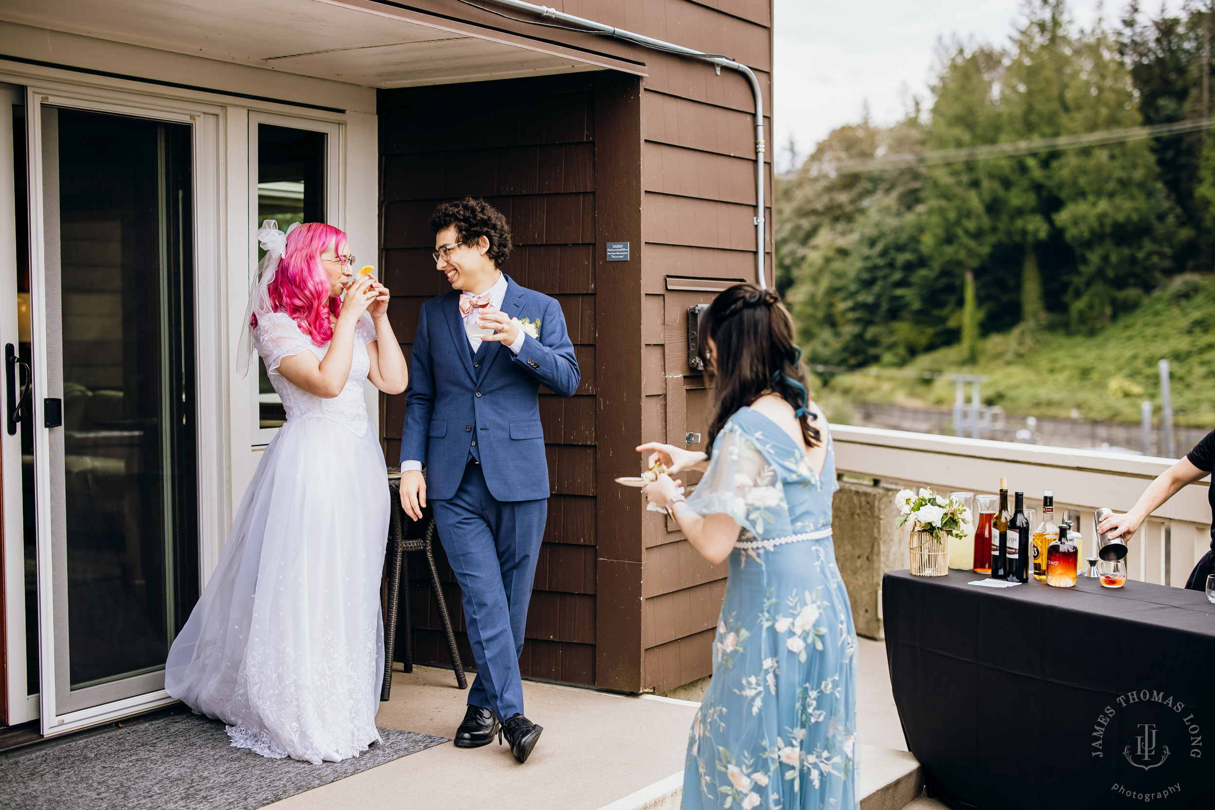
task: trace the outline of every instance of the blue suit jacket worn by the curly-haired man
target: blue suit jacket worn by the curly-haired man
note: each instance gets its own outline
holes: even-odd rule
[[[548,463],[539,421],[539,386],[563,397],[578,387],[578,362],[561,305],[507,277],[502,312],[539,323],[519,356],[487,342],[473,367],[459,290],[422,305],[409,358],[401,460],[426,463],[426,497],[451,498],[459,488],[476,440],[490,493],[498,500],[548,498]]]

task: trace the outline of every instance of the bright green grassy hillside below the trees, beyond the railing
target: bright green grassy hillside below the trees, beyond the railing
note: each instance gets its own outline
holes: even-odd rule
[[[983,340],[978,362],[960,346],[921,355],[899,369],[825,376],[815,396],[827,414],[847,419],[852,402],[949,406],[949,374],[985,374],[983,400],[1010,415],[1137,423],[1140,402],[1160,413],[1157,361],[1172,364],[1177,425],[1215,426],[1215,277],[1182,276],[1094,335],[1022,327]]]

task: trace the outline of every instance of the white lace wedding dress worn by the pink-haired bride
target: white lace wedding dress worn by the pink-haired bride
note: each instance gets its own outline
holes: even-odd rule
[[[375,329],[355,328],[341,393],[323,400],[278,372],[324,357],[288,316],[254,332],[287,424],[262,454],[219,566],[173,642],[165,689],[264,757],[338,761],[379,740],[384,454],[363,402]]]

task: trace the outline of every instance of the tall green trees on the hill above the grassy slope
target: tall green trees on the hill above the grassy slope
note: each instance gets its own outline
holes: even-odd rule
[[[900,366],[960,340],[976,357],[981,333],[1018,323],[1018,351],[1044,328],[1091,334],[1200,261],[1200,137],[836,171],[1194,115],[1202,12],[1145,24],[1131,6],[1115,34],[1076,29],[1063,0],[1024,9],[1007,49],[942,47],[926,115],[841,128],[778,182],[776,283],[812,363]]]

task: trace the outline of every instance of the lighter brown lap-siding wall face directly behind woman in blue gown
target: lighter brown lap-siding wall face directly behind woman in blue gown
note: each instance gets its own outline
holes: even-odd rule
[[[764,109],[772,109],[768,1],[655,5],[667,10],[667,27],[662,34],[640,33],[666,35],[746,63],[759,78]],[[646,6],[646,21],[659,17]],[[671,24],[679,18],[685,24]],[[688,24],[693,21],[695,26]],[[666,55],[651,56],[646,64],[650,75],[642,97],[643,434],[648,440],[661,437],[703,449],[703,443],[685,444],[688,432],[699,432],[702,442],[707,436],[711,396],[705,375],[688,366],[688,307],[708,304],[714,294],[667,289],[667,277],[756,281],[755,100],[746,80],[731,70],[718,77],[710,66]],[[770,118],[764,124],[770,138]],[[765,204],[770,206],[770,164],[765,174]],[[770,234],[770,209],[767,217]],[[772,267],[770,253],[767,266]],[[708,563],[673,521],[646,512],[644,523],[642,685],[663,692],[712,672],[712,639],[729,566]]]

